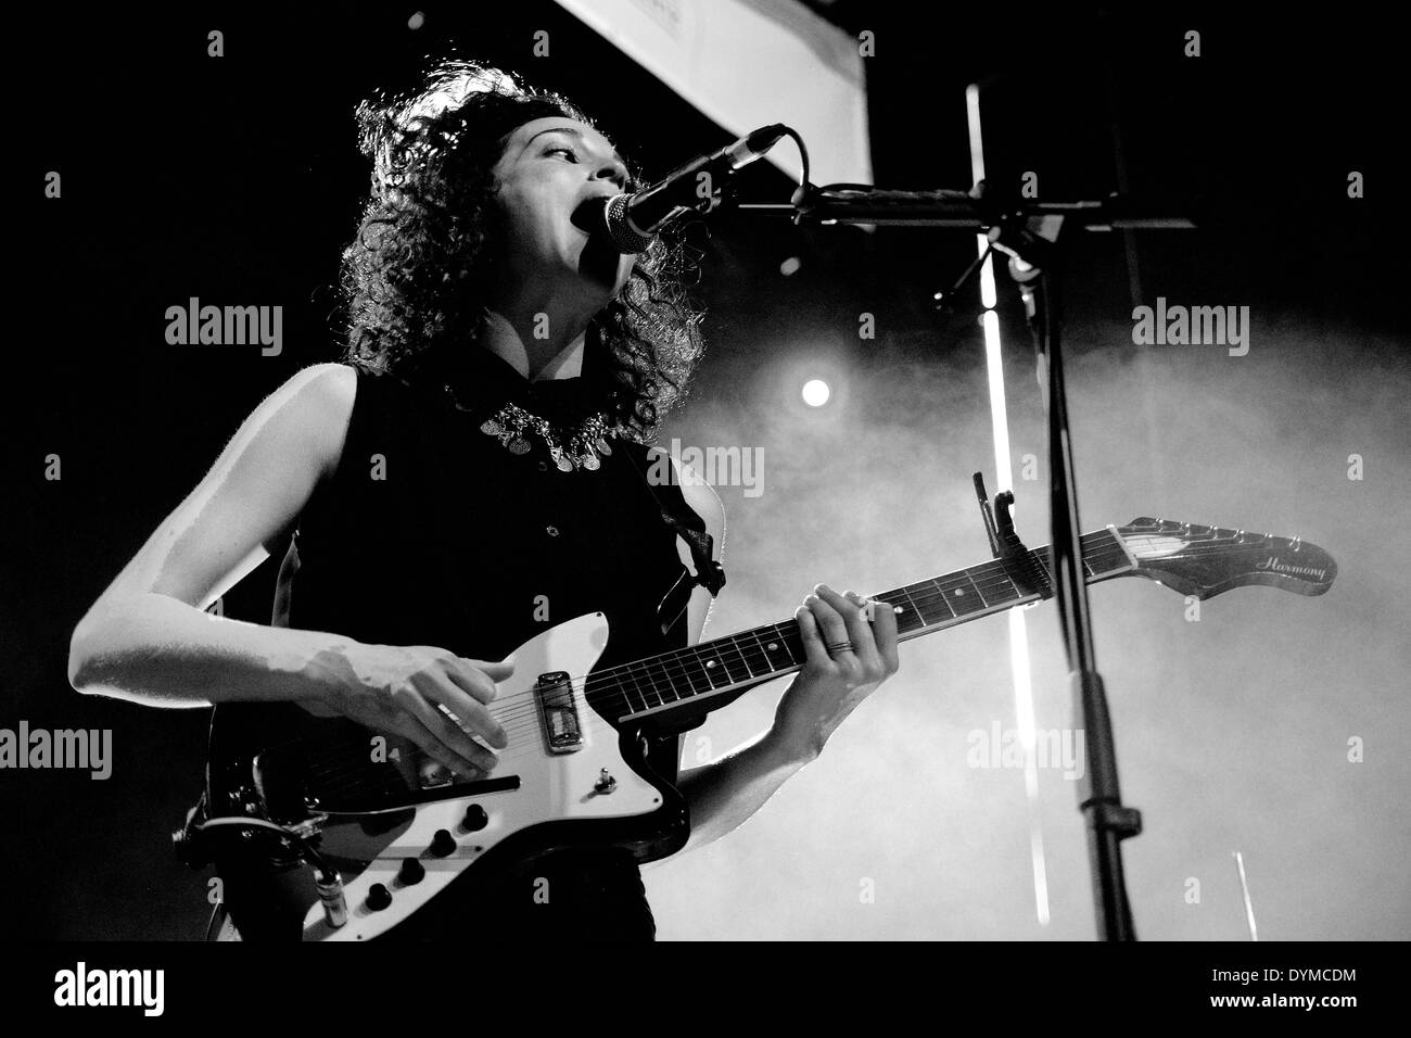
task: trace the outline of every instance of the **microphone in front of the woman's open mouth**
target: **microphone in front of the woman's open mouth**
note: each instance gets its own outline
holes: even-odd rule
[[[594,215],[593,223],[607,232],[619,253],[641,253],[672,220],[691,209],[708,212],[714,208],[715,184],[763,155],[785,133],[787,127],[782,123],[761,127],[720,151],[673,169],[646,191],[597,199],[602,215]]]

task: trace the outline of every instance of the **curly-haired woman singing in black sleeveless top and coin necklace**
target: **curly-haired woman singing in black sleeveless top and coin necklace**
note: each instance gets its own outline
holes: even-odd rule
[[[494,778],[526,734],[490,709],[512,667],[488,661],[594,612],[611,627],[600,667],[700,638],[722,510],[689,473],[648,477],[698,315],[679,247],[622,256],[593,233],[584,213],[635,181],[563,97],[440,62],[358,121],[374,175],[343,257],[343,363],[255,408],[79,623],[69,675],[85,693],[216,705],[246,730],[341,716]],[[203,612],[270,554],[274,624]],[[804,599],[807,661],[759,741],[679,777],[680,729],[650,744],[689,805],[687,847],[758,811],[896,671],[895,617],[864,604],[824,585]],[[308,873],[257,857],[217,857],[234,925],[299,939]],[[636,864],[608,846],[442,901],[391,932],[655,935]]]

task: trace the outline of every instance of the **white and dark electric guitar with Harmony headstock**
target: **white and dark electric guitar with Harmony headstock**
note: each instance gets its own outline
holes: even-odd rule
[[[1338,573],[1328,552],[1298,538],[1168,520],[1133,520],[1081,542],[1088,583],[1146,576],[1197,599],[1242,585],[1322,595]],[[897,637],[909,640],[1051,597],[1051,589],[1048,551],[1038,548],[871,597],[895,612]],[[295,832],[326,870],[339,870],[334,891],[309,904],[306,941],[375,938],[452,881],[574,845],[618,846],[638,861],[673,854],[690,832],[686,802],[646,765],[645,733],[801,669],[799,628],[790,617],[594,671],[608,637],[604,614],[590,613],[509,657],[515,672],[488,706],[509,746],[481,780],[344,717],[295,708],[296,729],[271,737],[223,729],[217,708],[209,818]]]

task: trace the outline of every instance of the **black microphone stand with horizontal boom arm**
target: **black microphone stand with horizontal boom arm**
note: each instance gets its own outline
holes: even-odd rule
[[[1065,223],[1086,230],[1192,227],[1173,213],[1143,209],[1116,195],[1096,202],[1024,202],[999,196],[985,182],[961,191],[879,191],[861,185],[804,185],[789,205],[742,205],[746,212],[792,215],[794,223],[873,223],[959,227],[985,233],[1006,253],[1034,336],[1038,378],[1048,412],[1050,573],[1058,600],[1074,716],[1086,743],[1086,770],[1078,782],[1078,809],[1086,819],[1098,933],[1134,941],[1132,905],[1122,869],[1122,840],[1141,832],[1141,815],[1122,804],[1116,743],[1106,689],[1094,651],[1088,587],[1082,571],[1078,489],[1068,429],[1061,345],[1058,270]],[[968,278],[979,264],[971,264]],[[962,278],[962,282],[964,280]],[[954,291],[954,290],[952,290]]]

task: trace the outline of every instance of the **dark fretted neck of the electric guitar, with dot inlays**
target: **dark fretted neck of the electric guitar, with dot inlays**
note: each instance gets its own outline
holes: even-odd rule
[[[1137,566],[1110,527],[1082,535],[1082,569],[1096,583]],[[917,638],[991,613],[1051,597],[1048,548],[991,559],[917,583],[872,595],[896,614],[897,640]],[[763,627],[638,660],[587,678],[584,693],[600,713],[618,720],[713,709],[711,698],[738,693],[804,665],[799,624],[790,617]]]

